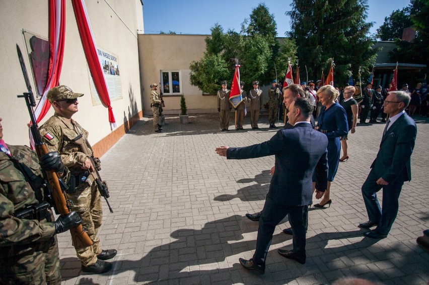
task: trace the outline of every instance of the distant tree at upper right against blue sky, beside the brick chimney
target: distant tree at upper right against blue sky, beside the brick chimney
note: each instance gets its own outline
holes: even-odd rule
[[[377,29],[377,37],[382,41],[393,41],[402,38],[402,31],[411,27],[410,8],[393,11],[389,17],[384,18],[383,25]]]

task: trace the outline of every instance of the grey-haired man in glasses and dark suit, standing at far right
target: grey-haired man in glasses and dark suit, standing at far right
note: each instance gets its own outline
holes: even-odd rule
[[[396,219],[399,195],[404,181],[411,180],[410,157],[414,148],[417,127],[405,113],[410,96],[404,91],[389,92],[383,103],[384,113],[389,115],[380,150],[371,165],[370,174],[362,185],[362,196],[369,221],[361,228],[376,229],[364,235],[370,238],[385,238]],[[377,192],[383,188],[383,212],[377,199]]]

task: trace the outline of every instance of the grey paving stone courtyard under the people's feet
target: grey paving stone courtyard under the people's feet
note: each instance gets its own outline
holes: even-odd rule
[[[99,236],[104,249],[118,249],[113,270],[81,272],[69,234],[63,233],[58,237],[62,284],[311,285],[342,276],[426,284],[429,254],[415,240],[429,228],[429,121],[416,120],[412,180],[402,188],[387,238],[364,238],[356,227],[368,220],[361,186],[384,124],[358,126],[349,136],[350,159],[340,163],[333,182],[331,207],[309,211],[307,263],[277,254],[278,248],[292,248],[292,237],[281,232],[289,227],[285,222],[274,232],[265,274],[258,275],[243,269],[238,258],[254,252],[258,223],[244,214],[262,209],[274,157],[227,160],[215,147],[270,139],[275,131],[268,129],[267,118],[262,116],[258,131],[247,118],[246,130],[238,132],[231,130],[231,118],[231,131],[220,132],[215,115],[190,115],[188,125],[171,116],[163,133],[154,133],[152,119],[144,118],[101,158],[114,213],[103,201]]]

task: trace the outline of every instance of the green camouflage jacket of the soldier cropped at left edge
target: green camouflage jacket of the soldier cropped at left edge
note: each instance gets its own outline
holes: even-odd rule
[[[17,243],[25,245],[47,240],[55,231],[54,224],[45,220],[39,222],[12,216],[17,210],[39,203],[33,188],[16,167],[16,163],[21,164],[35,189],[40,188],[44,179],[37,156],[29,147],[8,145],[8,148],[12,157],[0,152],[0,251],[4,250],[3,247]],[[40,191],[38,195],[42,200],[43,192]]]

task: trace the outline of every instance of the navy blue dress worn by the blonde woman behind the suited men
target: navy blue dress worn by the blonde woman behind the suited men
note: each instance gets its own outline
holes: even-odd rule
[[[317,121],[319,131],[324,131],[328,137],[328,181],[333,181],[339,163],[340,137],[348,133],[347,116],[344,108],[335,102],[328,110],[322,107]]]

